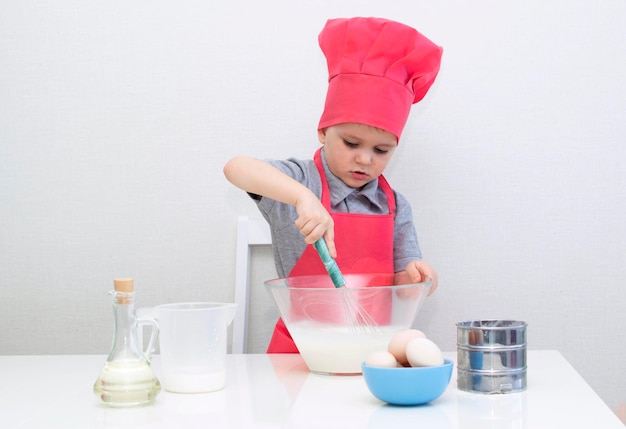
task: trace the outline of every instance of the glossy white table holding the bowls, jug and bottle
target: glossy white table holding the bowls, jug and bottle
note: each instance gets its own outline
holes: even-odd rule
[[[456,361],[456,353],[445,357]],[[162,391],[155,404],[112,409],[92,386],[104,356],[0,356],[0,427],[9,428],[566,428],[624,425],[557,351],[528,351],[528,390],[459,391],[456,374],[431,404],[395,407],[361,376],[311,374],[299,355],[228,355],[227,386]],[[159,375],[158,356],[153,362]]]

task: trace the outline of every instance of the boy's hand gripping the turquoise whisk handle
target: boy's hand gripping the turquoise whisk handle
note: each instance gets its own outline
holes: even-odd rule
[[[335,248],[335,227],[333,218],[324,208],[321,201],[313,194],[306,195],[296,202],[296,227],[308,244],[315,243],[320,237],[324,237],[330,256],[337,257]]]

